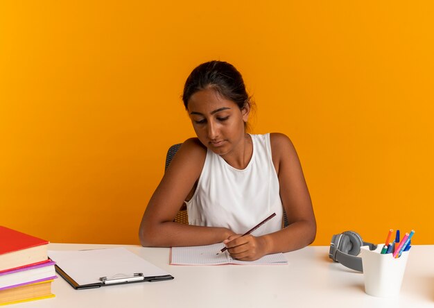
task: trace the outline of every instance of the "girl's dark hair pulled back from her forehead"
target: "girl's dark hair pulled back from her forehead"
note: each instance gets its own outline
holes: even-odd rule
[[[225,99],[234,101],[240,110],[245,107],[246,103],[250,103],[243,77],[233,65],[227,62],[205,62],[191,71],[182,94],[185,109],[188,107],[191,96],[203,89],[216,90]]]

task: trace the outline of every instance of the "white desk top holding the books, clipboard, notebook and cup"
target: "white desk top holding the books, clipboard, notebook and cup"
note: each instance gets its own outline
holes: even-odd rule
[[[114,245],[49,244],[50,250]],[[397,298],[368,296],[363,274],[328,257],[327,246],[286,253],[288,266],[171,266],[168,248],[125,246],[175,277],[163,282],[74,290],[62,277],[55,298],[10,307],[434,307],[434,245],[413,246]]]

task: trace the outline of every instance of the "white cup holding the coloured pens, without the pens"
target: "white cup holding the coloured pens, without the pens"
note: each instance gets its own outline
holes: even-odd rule
[[[367,294],[388,298],[399,295],[408,251],[395,259],[392,253],[381,255],[383,246],[384,244],[379,244],[376,250],[370,250],[368,246],[361,247],[363,277]]]

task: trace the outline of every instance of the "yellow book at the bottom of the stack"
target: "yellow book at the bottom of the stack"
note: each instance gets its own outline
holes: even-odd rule
[[[28,302],[30,300],[53,298],[54,294],[51,293],[51,282],[53,282],[53,280],[1,290],[0,306],[15,304],[17,302]]]

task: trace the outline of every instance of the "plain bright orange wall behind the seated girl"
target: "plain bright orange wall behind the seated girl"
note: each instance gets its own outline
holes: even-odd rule
[[[316,245],[434,244],[431,1],[169,2],[1,1],[0,225],[139,243],[166,150],[193,135],[184,80],[219,59],[254,95],[253,132],[293,139]]]

